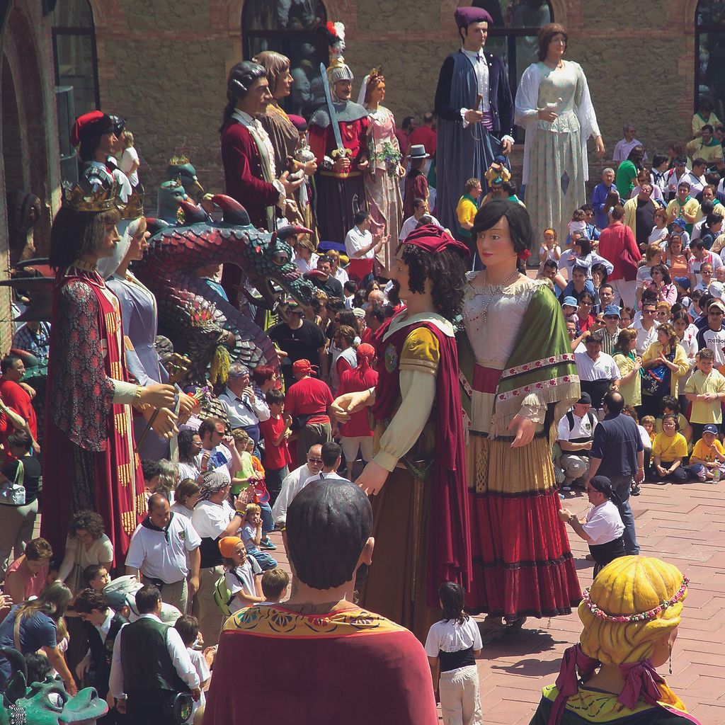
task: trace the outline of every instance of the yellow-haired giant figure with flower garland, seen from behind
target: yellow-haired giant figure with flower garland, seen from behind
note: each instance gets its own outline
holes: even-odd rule
[[[672,674],[688,584],[659,559],[625,556],[605,566],[579,605],[579,644],[564,653],[530,725],[697,724],[655,671],[669,658]]]

